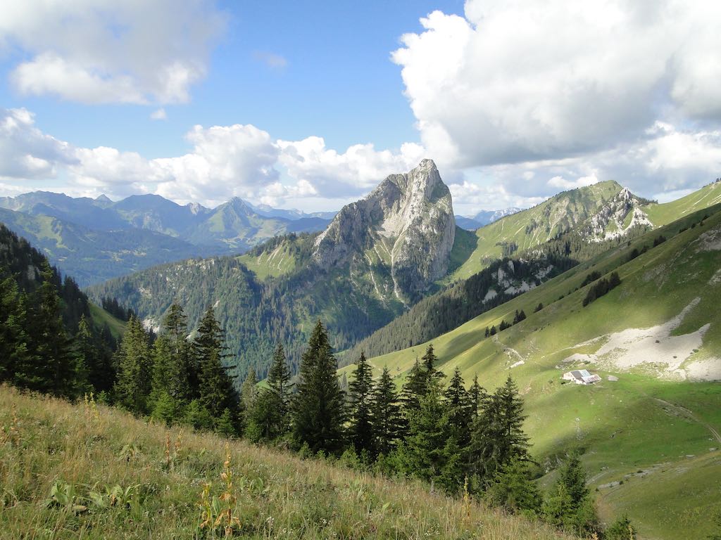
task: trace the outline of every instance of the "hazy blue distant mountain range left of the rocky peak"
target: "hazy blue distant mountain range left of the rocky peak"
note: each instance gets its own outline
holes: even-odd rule
[[[0,221],[83,286],[183,258],[243,253],[276,235],[323,230],[333,215],[238,198],[213,209],[151,194],[118,202],[51,192],[0,198]]]

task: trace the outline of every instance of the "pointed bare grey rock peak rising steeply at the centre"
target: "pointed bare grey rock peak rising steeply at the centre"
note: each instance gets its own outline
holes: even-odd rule
[[[385,267],[392,294],[405,301],[448,271],[456,235],[451,192],[435,163],[388,176],[365,199],[346,205],[316,240],[314,261],[324,269]],[[373,268],[370,268],[370,267]],[[373,278],[373,283],[376,280]],[[384,291],[376,286],[379,296]]]

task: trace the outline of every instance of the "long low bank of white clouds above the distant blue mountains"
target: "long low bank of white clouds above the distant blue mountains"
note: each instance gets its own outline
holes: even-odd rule
[[[333,208],[360,197],[388,174],[407,171],[423,158],[423,148],[414,144],[397,153],[370,144],[339,153],[322,138],[276,140],[253,125],[196,125],[185,139],[190,150],[168,158],[148,159],[106,146],[79,148],[45,135],[25,109],[0,109],[0,179],[47,180],[61,174],[63,190],[72,194],[156,193],[209,206],[243,197],[317,210],[317,204]],[[0,185],[0,192],[17,194],[13,185]]]

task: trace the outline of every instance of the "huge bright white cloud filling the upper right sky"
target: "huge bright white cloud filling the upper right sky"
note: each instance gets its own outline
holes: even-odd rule
[[[392,60],[423,144],[454,168],[590,156],[663,117],[721,120],[721,4],[469,0],[465,17],[421,23]]]

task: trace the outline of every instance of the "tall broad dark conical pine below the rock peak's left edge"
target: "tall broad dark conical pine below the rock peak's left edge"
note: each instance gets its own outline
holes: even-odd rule
[[[293,400],[293,435],[298,444],[317,451],[342,447],[345,397],[336,376],[337,361],[320,320],[301,358],[300,380]]]

